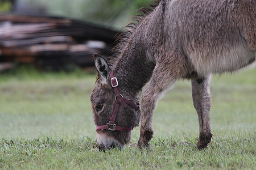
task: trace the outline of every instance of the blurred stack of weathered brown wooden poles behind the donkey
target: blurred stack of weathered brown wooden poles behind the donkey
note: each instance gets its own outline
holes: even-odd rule
[[[14,63],[48,70],[93,65],[93,53],[108,53],[117,31],[52,16],[0,14],[0,71]]]

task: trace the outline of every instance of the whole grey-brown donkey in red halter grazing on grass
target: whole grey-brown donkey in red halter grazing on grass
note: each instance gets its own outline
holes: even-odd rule
[[[98,81],[90,100],[98,147],[122,148],[140,120],[138,147],[149,147],[156,103],[176,80],[191,79],[200,125],[196,145],[205,148],[213,135],[211,75],[256,63],[256,1],[162,0],[141,11],[111,61],[94,54]]]

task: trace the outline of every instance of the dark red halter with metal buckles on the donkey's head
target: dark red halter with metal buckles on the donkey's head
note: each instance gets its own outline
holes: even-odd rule
[[[114,88],[114,92],[115,92],[114,112],[113,112],[112,116],[110,117],[110,121],[108,122],[108,124],[101,125],[101,126],[96,125],[96,130],[131,131],[131,130],[133,130],[133,127],[126,128],[126,127],[115,125],[115,117],[117,117],[117,112],[118,112],[118,108],[119,108],[120,104],[124,108],[127,108],[128,105],[130,105],[131,107],[135,108],[135,111],[138,111],[139,105],[133,103],[133,101],[130,101],[130,100],[127,100],[127,99],[123,98],[123,96],[120,94],[120,91],[118,89],[118,81],[117,81],[117,78],[114,76],[113,71],[110,72],[110,78],[111,78],[110,79],[111,86]]]

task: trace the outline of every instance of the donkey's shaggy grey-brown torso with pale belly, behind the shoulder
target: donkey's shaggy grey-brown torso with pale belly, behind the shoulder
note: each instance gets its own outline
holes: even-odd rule
[[[256,1],[163,1],[167,44],[180,48],[199,75],[255,61]],[[171,52],[170,52],[171,53]]]

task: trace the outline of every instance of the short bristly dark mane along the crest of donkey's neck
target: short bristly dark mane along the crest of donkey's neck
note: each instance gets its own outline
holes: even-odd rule
[[[123,49],[127,45],[127,43],[130,40],[130,37],[133,35],[133,33],[136,31],[137,27],[141,24],[142,20],[149,14],[151,14],[152,11],[159,5],[159,3],[162,0],[156,0],[153,4],[147,4],[146,7],[140,8],[137,12],[139,12],[139,15],[135,15],[131,18],[131,22],[123,27],[125,31],[122,31],[117,39],[115,40],[114,48],[112,49],[111,57],[108,57],[109,65],[110,67],[114,65],[117,58],[119,58],[122,54]]]

